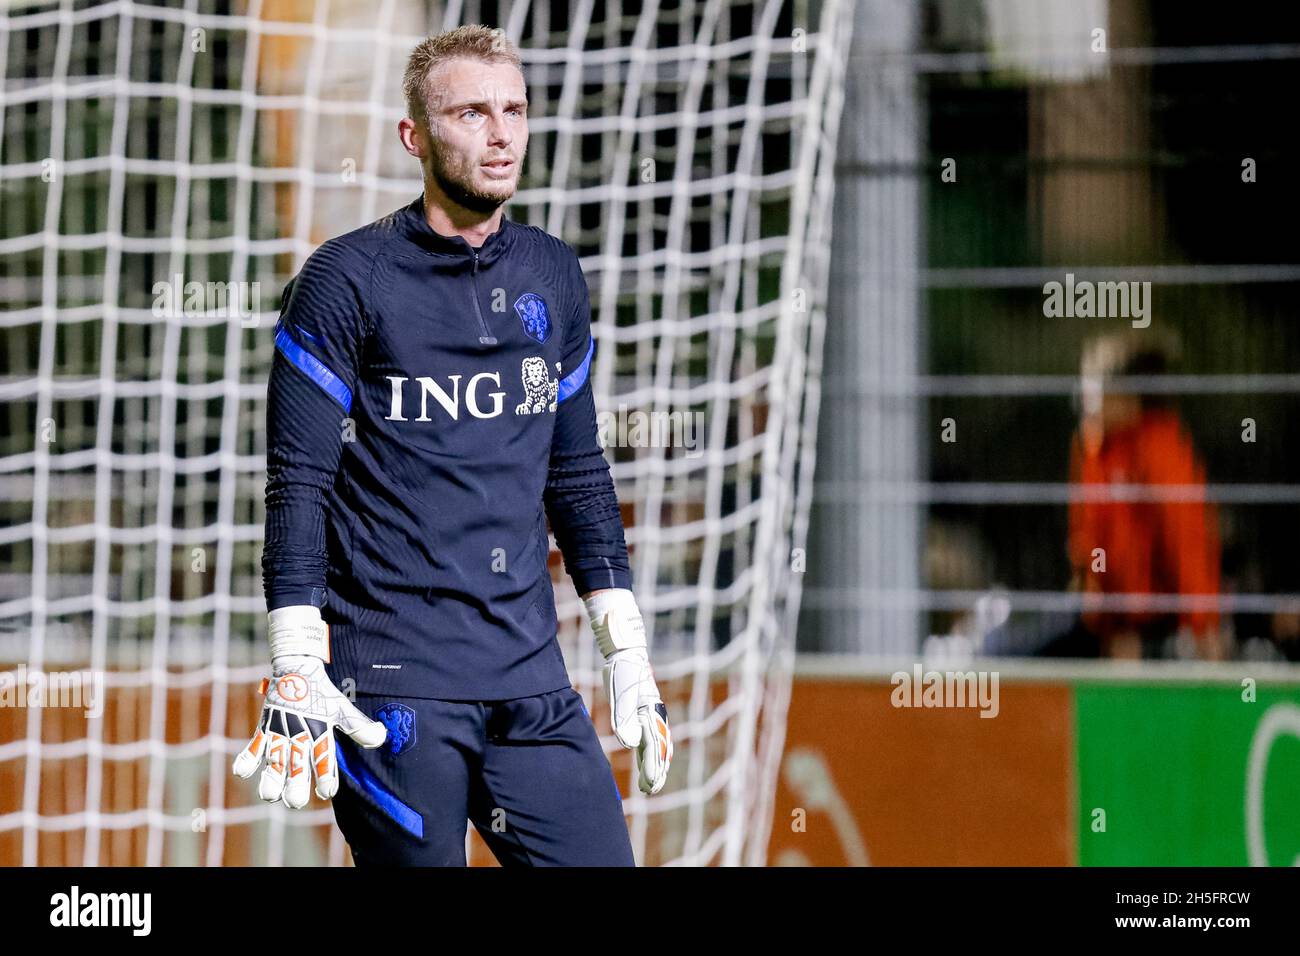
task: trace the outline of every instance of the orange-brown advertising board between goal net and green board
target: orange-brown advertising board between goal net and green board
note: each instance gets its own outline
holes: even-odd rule
[[[1071,696],[1004,684],[974,708],[894,706],[885,678],[797,678],[770,865],[1067,866]]]

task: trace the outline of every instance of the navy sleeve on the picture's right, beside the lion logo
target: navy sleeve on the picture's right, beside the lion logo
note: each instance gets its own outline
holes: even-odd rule
[[[546,514],[578,594],[630,588],[619,499],[597,434],[590,371],[595,356],[586,280],[572,260],[573,310],[564,323],[560,386],[546,480]]]

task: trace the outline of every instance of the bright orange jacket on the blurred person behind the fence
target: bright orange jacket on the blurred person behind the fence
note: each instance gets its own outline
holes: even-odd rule
[[[1218,594],[1218,514],[1205,497],[1205,470],[1171,411],[1148,410],[1138,424],[1105,434],[1089,425],[1075,433],[1070,480],[1076,485],[1183,485],[1176,501],[1070,502],[1070,563],[1086,593]],[[1158,492],[1157,492],[1158,494]],[[1105,549],[1105,574],[1092,570]],[[1162,611],[1086,611],[1095,633],[1136,628]],[[1217,610],[1184,610],[1178,623],[1197,635],[1218,627]]]

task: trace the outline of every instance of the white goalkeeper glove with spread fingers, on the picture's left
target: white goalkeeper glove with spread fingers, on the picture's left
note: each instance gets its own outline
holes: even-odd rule
[[[300,809],[311,799],[313,778],[321,800],[338,792],[335,726],[367,749],[382,744],[389,730],[358,710],[325,672],[329,624],[318,607],[277,607],[266,617],[272,676],[263,678],[261,719],[235,757],[234,773],[247,779],[265,757],[257,796]]]

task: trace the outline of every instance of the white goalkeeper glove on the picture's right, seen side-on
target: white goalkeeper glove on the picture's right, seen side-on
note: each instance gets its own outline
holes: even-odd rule
[[[619,743],[637,754],[637,784],[658,793],[668,779],[672,734],[668,709],[659,696],[646,654],[646,627],[636,598],[627,588],[595,591],[582,598],[604,656],[604,693],[610,723]]]

